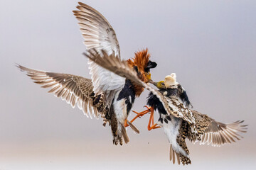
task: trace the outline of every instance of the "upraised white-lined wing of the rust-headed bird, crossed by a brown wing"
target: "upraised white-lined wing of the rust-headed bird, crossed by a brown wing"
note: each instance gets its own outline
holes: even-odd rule
[[[105,50],[108,55],[120,57],[119,43],[114,29],[110,26],[107,19],[101,13],[91,6],[78,3],[79,11],[73,11],[75,17],[80,23],[80,30],[85,39],[87,50],[95,49],[97,52]],[[109,72],[107,69],[99,67],[92,61],[90,65],[90,74],[92,75],[93,91],[95,94],[106,94],[106,101],[112,101],[111,93],[119,91],[124,87],[125,79]]]

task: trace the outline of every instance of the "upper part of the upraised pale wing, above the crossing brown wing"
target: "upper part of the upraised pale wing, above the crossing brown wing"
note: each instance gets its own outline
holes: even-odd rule
[[[108,55],[115,54],[120,57],[120,48],[114,29],[102,14],[78,2],[79,11],[73,11],[79,21],[82,37],[85,39],[87,50],[95,48],[97,52],[105,50]]]

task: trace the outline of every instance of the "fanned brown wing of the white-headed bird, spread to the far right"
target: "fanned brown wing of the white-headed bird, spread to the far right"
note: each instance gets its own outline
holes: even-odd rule
[[[216,120],[208,117],[208,115],[203,115],[198,113],[197,111],[193,111],[194,115],[198,117],[196,114],[200,114],[204,117],[208,123],[205,122],[206,129],[204,130],[203,135],[201,136],[200,144],[208,144],[213,146],[221,146],[227,143],[235,142],[236,140],[240,140],[242,138],[238,132],[246,132],[247,125],[242,125],[243,120],[236,121],[234,123],[220,123]],[[204,125],[201,125],[203,127]]]

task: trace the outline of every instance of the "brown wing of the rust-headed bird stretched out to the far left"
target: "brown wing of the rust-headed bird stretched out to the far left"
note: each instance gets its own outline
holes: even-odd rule
[[[99,112],[93,106],[92,97],[92,81],[84,77],[75,76],[72,74],[60,74],[54,72],[44,72],[36,69],[28,69],[17,64],[17,67],[22,72],[26,72],[28,77],[34,80],[36,84],[41,84],[43,88],[50,88],[48,93],[55,94],[56,97],[61,97],[67,103],[75,108],[83,111],[87,117],[92,115],[98,118]]]

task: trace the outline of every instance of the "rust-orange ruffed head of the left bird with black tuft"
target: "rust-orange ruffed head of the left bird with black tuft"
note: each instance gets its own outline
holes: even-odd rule
[[[150,69],[155,68],[157,65],[156,62],[151,62],[149,58],[150,55],[146,49],[135,52],[135,57],[127,60],[129,66],[136,70],[139,79],[146,83],[151,80]]]

